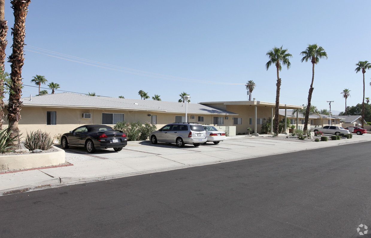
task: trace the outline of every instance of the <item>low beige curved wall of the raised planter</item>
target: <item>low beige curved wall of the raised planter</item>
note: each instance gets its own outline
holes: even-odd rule
[[[58,151],[50,153],[0,155],[0,169],[21,170],[65,163],[65,151],[58,147],[53,147]]]

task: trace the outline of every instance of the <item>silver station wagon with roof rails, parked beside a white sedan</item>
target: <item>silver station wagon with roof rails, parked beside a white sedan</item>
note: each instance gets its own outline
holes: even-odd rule
[[[150,134],[152,144],[157,142],[175,143],[178,147],[184,144],[199,146],[207,141],[206,131],[197,123],[171,123]]]

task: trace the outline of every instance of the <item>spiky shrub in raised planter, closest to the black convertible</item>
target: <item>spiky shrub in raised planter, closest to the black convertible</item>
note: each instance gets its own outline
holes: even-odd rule
[[[48,150],[53,146],[53,139],[49,133],[40,130],[27,133],[26,139],[22,141],[24,146],[29,150]]]

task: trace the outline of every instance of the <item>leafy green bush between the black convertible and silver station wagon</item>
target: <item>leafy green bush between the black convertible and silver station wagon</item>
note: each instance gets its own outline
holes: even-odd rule
[[[114,130],[124,131],[128,141],[144,141],[152,131],[157,130],[156,125],[146,122],[142,125],[138,122],[119,122],[114,126]]]

